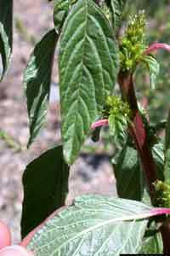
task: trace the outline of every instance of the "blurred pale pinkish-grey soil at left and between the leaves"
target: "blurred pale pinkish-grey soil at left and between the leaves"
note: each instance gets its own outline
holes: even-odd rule
[[[22,174],[26,164],[42,151],[60,143],[58,88],[53,87],[48,119],[37,141],[26,150],[29,137],[26,98],[23,92],[23,71],[33,49],[31,38],[38,41],[53,26],[53,9],[45,0],[14,1],[14,49],[8,75],[0,84],[0,219],[12,230],[13,241],[20,241],[22,210]],[[57,64],[55,65],[57,66]],[[54,68],[54,81],[58,76]],[[56,90],[55,90],[56,89]],[[88,146],[92,143],[88,141]],[[94,145],[93,145],[94,147]],[[115,180],[109,157],[102,143],[95,145],[97,154],[82,154],[71,167],[70,193],[67,203],[83,193],[115,195]],[[34,211],[34,209],[32,209]]]

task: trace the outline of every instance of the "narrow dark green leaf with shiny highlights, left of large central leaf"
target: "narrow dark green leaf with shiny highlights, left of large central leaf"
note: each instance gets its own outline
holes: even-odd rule
[[[28,146],[37,137],[45,121],[57,39],[54,29],[48,32],[36,45],[25,70],[24,87],[30,121]]]

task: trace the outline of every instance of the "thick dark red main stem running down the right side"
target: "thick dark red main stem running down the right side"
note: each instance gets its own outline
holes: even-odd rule
[[[139,113],[138,103],[133,87],[133,74],[129,72],[120,72],[118,83],[122,92],[122,100],[128,102],[132,111],[132,124],[129,125],[129,133],[138,150],[139,157],[143,166],[150,190],[150,199],[154,203],[154,185],[156,182],[156,165],[148,142],[147,130],[144,127],[144,121]],[[170,253],[170,221],[167,220],[161,226],[161,236],[163,240],[164,253]]]

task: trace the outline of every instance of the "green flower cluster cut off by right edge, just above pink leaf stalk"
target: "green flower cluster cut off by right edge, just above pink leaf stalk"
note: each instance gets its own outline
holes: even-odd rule
[[[156,207],[170,208],[170,184],[158,180],[154,186]]]

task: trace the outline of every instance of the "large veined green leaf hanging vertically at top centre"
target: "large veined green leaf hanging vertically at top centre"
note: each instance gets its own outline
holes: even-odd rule
[[[59,86],[65,160],[73,163],[116,83],[117,44],[109,21],[92,0],[79,0],[63,26]]]

